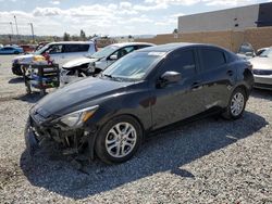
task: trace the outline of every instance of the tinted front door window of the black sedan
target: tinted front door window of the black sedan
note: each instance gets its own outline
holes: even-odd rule
[[[165,71],[175,71],[184,76],[191,76],[196,73],[194,51],[176,51],[163,63]]]

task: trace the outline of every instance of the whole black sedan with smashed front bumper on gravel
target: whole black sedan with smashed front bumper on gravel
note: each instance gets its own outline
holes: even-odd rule
[[[63,154],[125,162],[154,130],[205,114],[242,117],[252,85],[250,63],[215,46],[138,50],[33,106],[25,128],[27,150],[33,153],[52,140]]]

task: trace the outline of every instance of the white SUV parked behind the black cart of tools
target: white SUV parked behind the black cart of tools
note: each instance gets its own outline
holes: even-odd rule
[[[15,75],[23,75],[22,65],[29,64],[34,55],[49,54],[50,60],[59,64],[61,67],[66,62],[78,59],[84,55],[94,54],[97,51],[94,41],[63,41],[51,42],[42,47],[40,50],[32,53],[14,58],[12,61],[12,72]]]

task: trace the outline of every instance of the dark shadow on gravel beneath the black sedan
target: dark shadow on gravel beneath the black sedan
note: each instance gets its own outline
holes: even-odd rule
[[[88,175],[76,170],[64,160],[53,160],[41,152],[33,158],[24,152],[21,168],[32,184],[76,200],[161,171],[194,179],[195,176],[183,169],[183,165],[250,137],[267,124],[263,117],[249,112],[235,122],[198,120],[152,137],[134,158],[124,164],[110,166],[95,161],[86,166]]]

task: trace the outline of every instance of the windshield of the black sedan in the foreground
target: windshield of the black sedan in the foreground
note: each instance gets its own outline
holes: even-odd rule
[[[133,52],[109,66],[101,76],[140,80],[164,54],[164,52]]]

